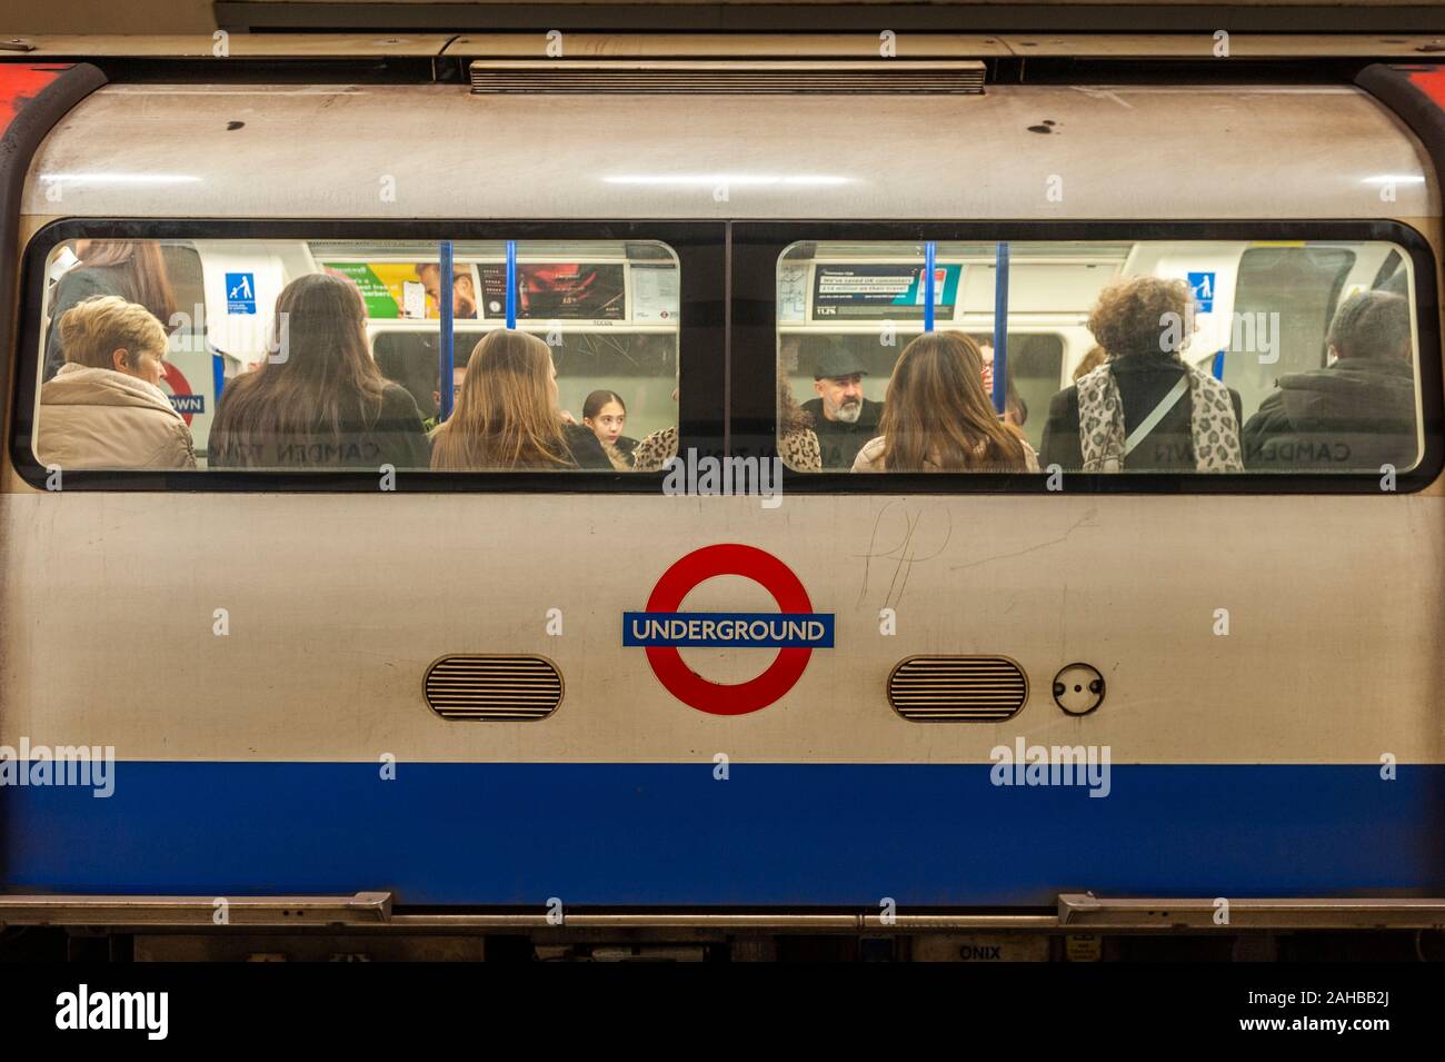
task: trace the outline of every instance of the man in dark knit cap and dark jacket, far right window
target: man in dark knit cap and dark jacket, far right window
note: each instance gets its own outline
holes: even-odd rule
[[[1374,290],[1340,306],[1331,364],[1280,377],[1244,425],[1250,468],[1409,468],[1416,457],[1410,305]]]

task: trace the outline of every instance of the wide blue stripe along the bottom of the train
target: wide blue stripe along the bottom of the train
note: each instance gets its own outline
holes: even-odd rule
[[[0,789],[0,883],[400,903],[1051,905],[1100,894],[1445,894],[1445,766],[118,763]]]

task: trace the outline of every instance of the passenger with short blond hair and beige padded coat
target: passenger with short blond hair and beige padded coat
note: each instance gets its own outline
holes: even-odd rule
[[[160,390],[166,332],[144,306],[85,299],[58,321],[66,363],[40,387],[42,464],[195,468],[191,429]]]

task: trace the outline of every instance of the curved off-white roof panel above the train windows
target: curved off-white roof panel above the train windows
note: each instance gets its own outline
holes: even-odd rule
[[[22,205],[32,217],[504,220],[1439,208],[1422,144],[1383,105],[1348,85],[1290,84],[727,97],[113,84],[46,137]]]

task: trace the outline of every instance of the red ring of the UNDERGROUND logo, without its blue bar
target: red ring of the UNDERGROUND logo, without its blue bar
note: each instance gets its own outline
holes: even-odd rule
[[[715,575],[741,575],[773,595],[785,613],[811,613],[812,601],[793,571],[756,546],[722,543],[704,546],[662,574],[647,598],[649,613],[675,613],[682,598],[699,582]],[[647,646],[652,673],[685,705],[712,715],[746,715],[777,701],[802,678],[812,649],[779,649],[777,659],[756,679],[727,685],[708,682],[682,662],[675,646]]]

